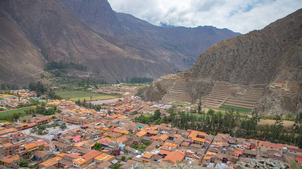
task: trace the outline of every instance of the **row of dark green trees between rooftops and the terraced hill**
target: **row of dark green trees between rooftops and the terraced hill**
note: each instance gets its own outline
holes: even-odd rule
[[[228,133],[231,136],[294,144],[302,148],[302,111],[297,114],[294,125],[288,127],[283,126],[283,119],[280,115],[276,116],[276,121],[272,125],[259,125],[260,116],[257,111],[252,111],[252,116],[245,118],[241,118],[239,112],[219,111],[215,113],[211,109],[207,114],[200,115],[185,113],[184,111],[176,113],[173,108],[169,109],[168,112],[170,115],[163,118],[160,117],[159,113],[159,116],[141,115],[136,117],[134,121],[145,124],[171,123],[173,127],[182,130],[192,129],[212,135]]]

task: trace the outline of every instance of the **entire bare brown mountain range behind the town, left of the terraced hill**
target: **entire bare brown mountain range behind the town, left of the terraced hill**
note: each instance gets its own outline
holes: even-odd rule
[[[209,26],[155,26],[116,13],[107,0],[3,0],[0,10],[0,82],[32,77],[49,61],[85,65],[85,71],[67,69],[76,78],[158,78],[190,68],[197,52],[240,34]]]

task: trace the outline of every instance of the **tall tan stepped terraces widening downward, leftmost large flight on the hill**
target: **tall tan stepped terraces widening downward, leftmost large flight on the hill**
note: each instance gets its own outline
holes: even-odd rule
[[[168,82],[171,83],[171,82]],[[187,90],[187,79],[183,73],[176,74],[175,84],[171,90],[163,97],[163,102],[180,102],[180,103],[191,103],[191,97],[186,92]]]

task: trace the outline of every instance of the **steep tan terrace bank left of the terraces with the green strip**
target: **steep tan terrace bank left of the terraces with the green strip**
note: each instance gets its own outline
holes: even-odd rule
[[[207,99],[204,101],[204,107],[217,109],[230,95],[232,84],[228,82],[216,81]],[[205,98],[205,97],[204,97]],[[202,102],[204,100],[202,98]]]

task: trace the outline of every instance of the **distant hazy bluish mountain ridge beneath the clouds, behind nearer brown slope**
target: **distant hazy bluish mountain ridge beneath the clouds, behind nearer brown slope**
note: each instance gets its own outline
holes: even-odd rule
[[[191,68],[193,60],[207,47],[240,34],[211,26],[155,26],[132,15],[116,13],[107,0],[57,1],[69,8],[83,22],[106,35],[104,38],[110,43],[130,54],[167,63],[174,70]]]

